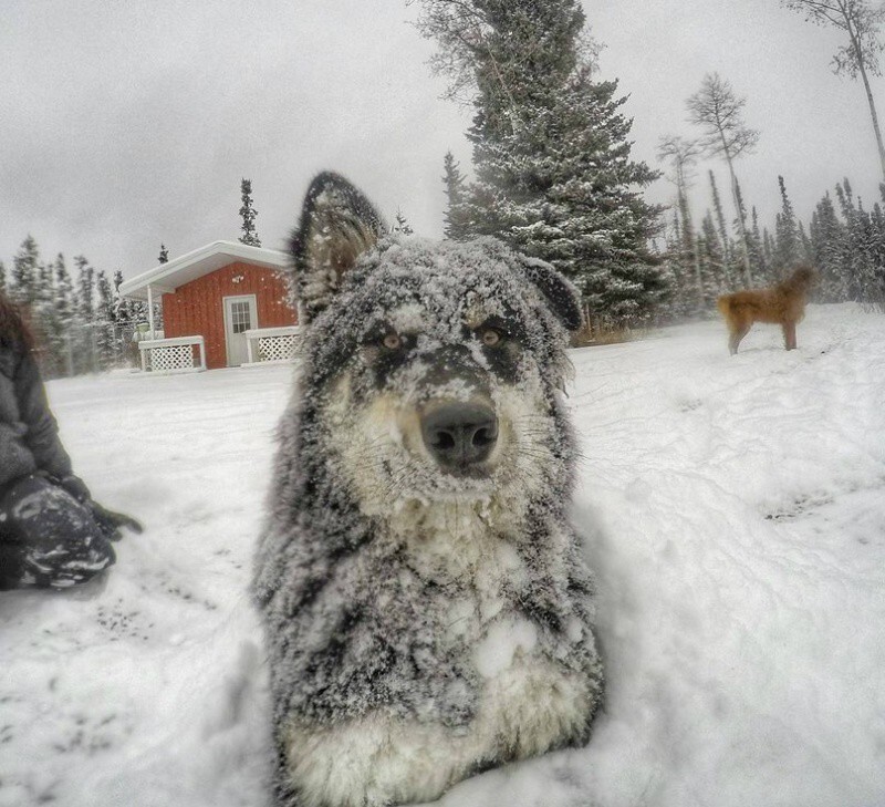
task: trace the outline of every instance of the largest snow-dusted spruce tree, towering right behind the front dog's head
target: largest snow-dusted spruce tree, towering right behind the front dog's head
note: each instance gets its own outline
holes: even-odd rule
[[[631,159],[616,82],[597,82],[577,0],[424,0],[437,64],[475,89],[466,235],[493,235],[571,278],[594,317],[642,320],[665,291],[648,240],[657,172]]]

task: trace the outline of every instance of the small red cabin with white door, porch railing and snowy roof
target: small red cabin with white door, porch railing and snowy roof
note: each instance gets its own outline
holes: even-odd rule
[[[163,333],[139,343],[155,371],[215,370],[287,360],[298,337],[285,252],[215,241],[125,280],[124,297],[163,299]],[[162,335],[160,339],[156,339]]]

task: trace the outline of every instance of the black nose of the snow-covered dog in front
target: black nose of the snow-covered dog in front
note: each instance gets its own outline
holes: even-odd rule
[[[498,441],[498,418],[480,404],[444,404],[424,416],[421,434],[440,465],[466,470],[491,454]]]

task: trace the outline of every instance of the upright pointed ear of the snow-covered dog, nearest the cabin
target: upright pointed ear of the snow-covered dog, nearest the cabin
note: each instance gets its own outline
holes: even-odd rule
[[[343,176],[317,174],[292,232],[295,293],[306,320],[316,318],[356,259],[387,231],[374,205]]]

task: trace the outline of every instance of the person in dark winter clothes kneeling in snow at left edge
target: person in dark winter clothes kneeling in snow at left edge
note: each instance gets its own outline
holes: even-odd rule
[[[33,339],[0,292],[0,590],[66,588],[110,567],[128,516],[93,501],[59,439]]]

